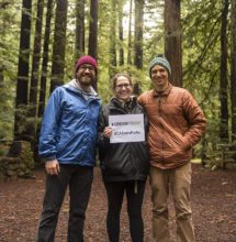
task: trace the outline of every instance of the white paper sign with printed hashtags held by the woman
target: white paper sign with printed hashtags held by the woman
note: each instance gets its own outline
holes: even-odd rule
[[[110,143],[145,141],[144,114],[109,116]]]

